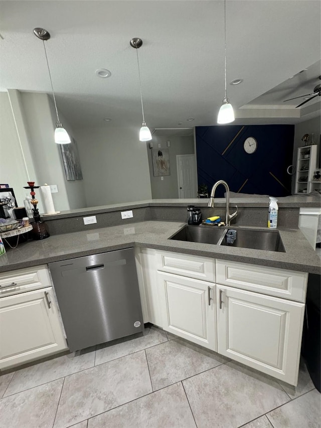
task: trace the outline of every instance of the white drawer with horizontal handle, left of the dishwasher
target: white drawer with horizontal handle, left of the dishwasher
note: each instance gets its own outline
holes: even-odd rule
[[[0,273],[0,296],[25,293],[44,287],[51,287],[47,266],[33,266]]]

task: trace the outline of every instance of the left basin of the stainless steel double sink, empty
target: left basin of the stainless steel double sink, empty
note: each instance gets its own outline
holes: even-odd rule
[[[212,226],[184,226],[170,239],[176,241],[201,242],[203,244],[217,244],[225,234],[220,228],[212,229]]]

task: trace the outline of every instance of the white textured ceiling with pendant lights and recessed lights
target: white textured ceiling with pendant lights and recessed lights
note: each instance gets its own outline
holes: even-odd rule
[[[321,97],[298,109],[297,100],[283,100],[319,83],[320,5],[227,0],[227,94],[235,123],[297,123],[319,114]],[[50,93],[43,44],[33,34],[42,27],[51,34],[45,43],[58,108],[69,122],[140,126],[136,52],[129,46],[140,37],[147,125],[216,124],[224,96],[223,1],[9,0],[0,12],[0,90]],[[96,77],[99,68],[111,77]],[[229,85],[235,78],[244,81]]]

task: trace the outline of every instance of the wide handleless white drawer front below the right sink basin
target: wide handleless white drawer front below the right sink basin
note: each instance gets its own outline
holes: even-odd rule
[[[307,273],[216,260],[216,282],[243,290],[304,302]]]

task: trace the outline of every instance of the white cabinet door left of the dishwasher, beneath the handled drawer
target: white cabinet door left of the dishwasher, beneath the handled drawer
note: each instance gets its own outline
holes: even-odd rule
[[[67,343],[52,287],[0,299],[1,369],[64,349]]]

